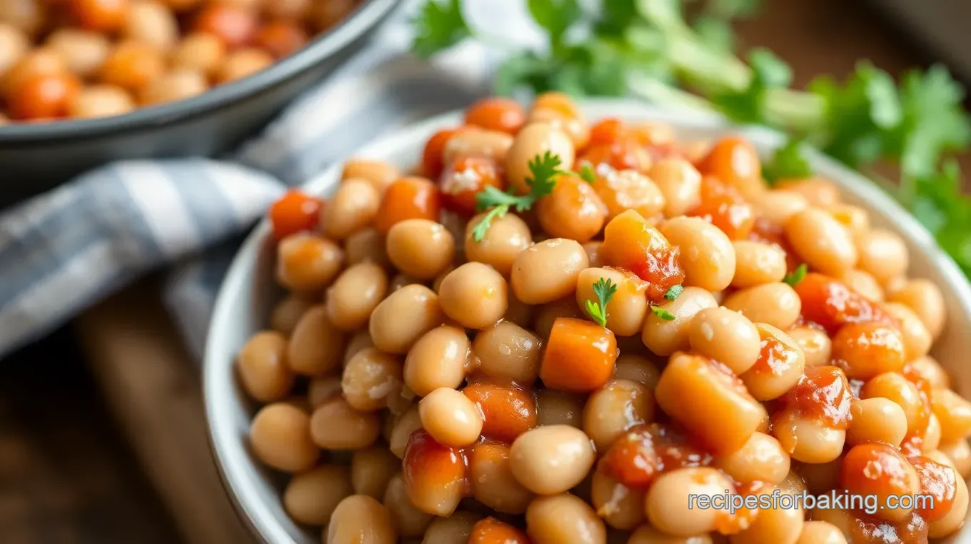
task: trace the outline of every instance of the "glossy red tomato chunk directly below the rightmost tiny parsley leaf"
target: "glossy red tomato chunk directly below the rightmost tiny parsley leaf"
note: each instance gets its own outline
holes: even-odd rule
[[[806,274],[795,291],[802,301],[802,317],[818,323],[830,336],[846,323],[892,323],[877,303],[822,274]]]

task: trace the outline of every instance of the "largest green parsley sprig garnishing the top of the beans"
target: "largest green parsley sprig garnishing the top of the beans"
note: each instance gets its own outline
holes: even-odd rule
[[[556,186],[556,176],[577,175],[584,178],[587,183],[592,183],[592,178],[589,178],[592,170],[577,174],[560,168],[561,163],[559,156],[551,152],[534,156],[528,163],[529,176],[526,178],[526,185],[529,186],[528,194],[516,194],[512,188],[503,191],[492,186],[486,186],[476,193],[476,208],[480,212],[488,210],[488,213],[473,227],[472,238],[476,242],[482,242],[492,221],[505,216],[510,209],[522,213],[532,208],[537,200],[552,193],[552,188]]]

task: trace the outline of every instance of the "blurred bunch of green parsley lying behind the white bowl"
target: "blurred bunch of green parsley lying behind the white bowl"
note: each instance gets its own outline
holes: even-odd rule
[[[971,145],[971,123],[961,108],[964,89],[943,66],[897,83],[860,62],[845,82],[823,76],[799,90],[771,51],[749,51],[745,61],[733,52],[730,21],[751,17],[754,0],[710,0],[697,17],[686,17],[686,0],[600,0],[594,12],[579,0],[525,2],[548,47],[511,52],[496,74],[497,94],[631,95],[779,129],[790,141],[765,165],[770,183],[810,176],[806,147],[871,177],[875,163],[896,164],[899,186],[883,186],[971,274],[971,200],[951,158]],[[490,41],[467,24],[462,0],[426,0],[415,27],[422,57],[466,39]]]

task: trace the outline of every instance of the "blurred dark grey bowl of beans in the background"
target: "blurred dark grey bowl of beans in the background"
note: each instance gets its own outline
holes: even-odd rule
[[[397,3],[3,0],[0,206],[111,160],[232,149]]]

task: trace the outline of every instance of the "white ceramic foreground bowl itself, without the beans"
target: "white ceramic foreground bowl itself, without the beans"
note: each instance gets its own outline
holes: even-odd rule
[[[679,137],[712,138],[727,133],[748,136],[760,153],[771,153],[784,140],[762,129],[740,129],[723,119],[685,112],[667,112],[626,100],[588,101],[583,104],[588,119],[619,117],[658,120],[671,124]],[[399,130],[368,146],[357,156],[378,158],[410,168],[420,156],[425,140],[435,131],[461,122],[454,112]],[[956,391],[971,394],[971,367],[963,364],[971,353],[971,287],[964,275],[933,238],[903,208],[880,188],[835,161],[812,153],[810,162],[820,176],[832,180],[847,202],[870,213],[874,226],[897,232],[910,251],[910,275],[926,278],[944,292],[948,304],[948,327],[932,354],[951,372]],[[315,194],[329,194],[340,180],[336,164],[305,187]],[[209,429],[219,470],[227,492],[243,518],[267,544],[318,544],[319,529],[309,530],[286,516],[281,502],[283,481],[279,474],[263,467],[251,455],[247,444],[255,405],[240,388],[234,371],[237,352],[254,332],[268,322],[280,289],[273,282],[274,245],[270,225],[263,221],[236,255],[219,291],[209,329],[204,363],[204,390]],[[971,528],[952,542],[971,542]]]

